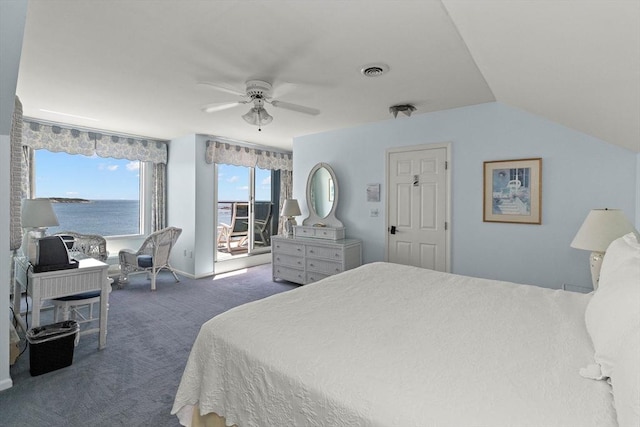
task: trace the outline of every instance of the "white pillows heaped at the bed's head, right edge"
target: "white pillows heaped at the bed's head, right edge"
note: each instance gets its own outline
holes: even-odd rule
[[[640,425],[640,244],[634,233],[611,243],[585,312],[602,376],[611,378],[621,427]]]

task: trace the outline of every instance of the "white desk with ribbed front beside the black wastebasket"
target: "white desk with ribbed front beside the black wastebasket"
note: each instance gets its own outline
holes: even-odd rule
[[[79,262],[78,268],[34,273],[26,258],[16,257],[13,309],[16,313],[20,313],[21,289],[26,289],[33,301],[30,325],[33,328],[40,326],[40,308],[44,300],[88,291],[101,291],[98,348],[103,349],[107,345],[107,309],[111,287],[107,275],[109,265],[93,258],[82,259]]]

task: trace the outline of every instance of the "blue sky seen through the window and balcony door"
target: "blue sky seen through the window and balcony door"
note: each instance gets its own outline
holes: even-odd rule
[[[139,162],[36,150],[36,197],[138,200]],[[249,199],[249,168],[218,166],[218,200]],[[213,191],[213,190],[212,190]],[[271,199],[271,171],[256,168],[256,200]]]

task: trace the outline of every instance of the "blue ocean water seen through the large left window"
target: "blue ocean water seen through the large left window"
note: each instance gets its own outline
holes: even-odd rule
[[[91,200],[90,203],[52,203],[60,225],[47,234],[76,231],[100,236],[140,233],[138,200]]]

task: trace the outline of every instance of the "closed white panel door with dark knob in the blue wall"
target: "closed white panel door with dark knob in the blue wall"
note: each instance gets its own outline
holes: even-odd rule
[[[448,271],[447,147],[387,153],[387,260]]]

